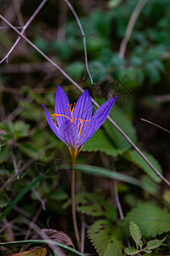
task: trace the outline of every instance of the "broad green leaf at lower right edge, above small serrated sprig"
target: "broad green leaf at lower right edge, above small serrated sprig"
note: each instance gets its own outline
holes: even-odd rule
[[[139,226],[145,237],[157,236],[170,231],[170,214],[149,203],[140,203],[138,207],[127,213],[122,221],[122,228],[124,227],[125,232],[131,221]]]

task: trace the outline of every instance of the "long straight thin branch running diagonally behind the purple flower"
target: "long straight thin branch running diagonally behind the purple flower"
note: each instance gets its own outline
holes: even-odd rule
[[[59,70],[59,72],[62,73],[62,74],[65,76],[66,79],[68,79],[72,84],[74,84],[74,85],[77,87],[78,90],[84,92],[84,90],[83,90],[73,79],[71,79],[71,77],[70,77],[67,73],[65,73],[65,71],[64,71],[61,67],[59,67],[56,63],[54,63],[54,61],[52,61],[52,60],[48,57],[48,55],[45,55],[45,54],[42,52],[41,49],[37,48],[37,46],[36,46],[35,44],[33,44],[33,43],[31,42],[31,40],[29,40],[29,39],[26,38],[24,35],[22,35],[18,29],[16,29],[10,22],[8,22],[8,20],[6,20],[6,19],[3,17],[3,15],[0,15],[0,18],[1,18],[6,24],[8,24],[8,26],[10,26],[15,32],[17,32],[17,33],[20,35],[21,38],[24,38],[24,39],[26,40],[26,42],[31,45],[31,47],[33,47],[34,49],[36,49],[37,52],[39,52],[47,61],[49,61],[55,68],[57,68],[57,69]],[[99,108],[99,104],[98,104],[97,102],[95,102],[93,98],[91,98],[91,99],[92,99],[92,102],[94,103],[94,105],[95,105],[97,108]],[[156,170],[156,168],[155,168],[155,167],[150,163],[150,161],[144,156],[144,154],[141,152],[141,150],[133,143],[133,141],[127,136],[127,134],[126,134],[124,131],[122,131],[122,129],[121,129],[118,125],[116,125],[115,121],[114,121],[113,119],[111,119],[110,116],[108,116],[107,119],[109,119],[109,121],[111,122],[111,124],[116,127],[116,129],[122,134],[123,137],[126,138],[127,142],[130,143],[130,144],[133,146],[133,148],[134,148],[134,149],[139,153],[139,155],[145,160],[145,162],[150,166],[150,168],[151,168],[154,172],[156,172],[156,175],[159,176],[159,177],[161,177],[161,179],[162,179],[165,183],[167,183],[168,186],[170,186],[170,182],[169,182],[165,177],[163,177],[160,172],[158,172],[158,171]]]

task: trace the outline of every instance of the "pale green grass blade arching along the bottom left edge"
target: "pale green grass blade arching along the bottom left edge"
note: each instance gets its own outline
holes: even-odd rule
[[[37,244],[37,243],[53,244],[57,247],[64,249],[68,253],[72,253],[73,255],[84,256],[84,254],[77,252],[77,250],[72,249],[71,247],[67,247],[60,242],[51,241],[51,240],[8,241],[8,242],[1,242],[0,247],[11,247],[11,246],[19,247],[19,246],[26,245],[26,244]]]

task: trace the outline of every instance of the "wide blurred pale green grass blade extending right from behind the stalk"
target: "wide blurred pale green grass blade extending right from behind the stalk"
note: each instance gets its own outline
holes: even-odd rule
[[[76,165],[75,169],[81,172],[87,172],[93,175],[103,176],[103,177],[109,177],[112,179],[116,179],[125,183],[131,183],[133,185],[136,185],[140,187],[141,189],[144,189],[145,191],[149,192],[151,195],[155,195],[155,189],[150,186],[148,183],[144,183],[143,181],[140,181],[139,179],[135,177],[129,177],[125,174],[114,172],[109,169],[97,167],[97,166],[82,166],[82,165]]]

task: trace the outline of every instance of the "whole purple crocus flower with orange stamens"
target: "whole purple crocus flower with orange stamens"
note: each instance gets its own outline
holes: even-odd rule
[[[77,103],[72,105],[65,91],[57,85],[55,113],[52,114],[52,117],[49,115],[47,108],[44,105],[43,107],[51,130],[67,145],[71,157],[76,159],[82,145],[104,123],[115,101],[116,96],[101,105],[92,116],[93,104],[88,90],[85,90]]]

